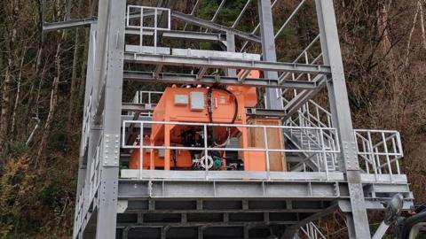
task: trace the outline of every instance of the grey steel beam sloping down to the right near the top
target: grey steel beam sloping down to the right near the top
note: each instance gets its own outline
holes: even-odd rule
[[[241,32],[239,30],[233,29],[231,27],[225,27],[223,25],[211,22],[209,20],[205,20],[205,19],[200,19],[197,17],[194,17],[192,15],[188,15],[182,12],[171,12],[171,17],[174,19],[180,19],[183,20],[187,23],[196,25],[196,26],[200,26],[200,27],[204,27],[204,28],[208,28],[211,30],[217,30],[217,31],[221,31],[221,32],[229,32],[232,33],[233,35],[237,35],[239,37],[241,37],[244,40],[248,40],[250,42],[260,42],[260,38],[256,35],[253,34],[248,34],[248,33],[244,33]]]

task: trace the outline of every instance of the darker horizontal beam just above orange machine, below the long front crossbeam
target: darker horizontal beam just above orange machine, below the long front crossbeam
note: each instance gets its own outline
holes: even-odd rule
[[[317,89],[317,83],[313,81],[283,81],[281,84],[277,80],[269,79],[246,79],[244,82],[238,80],[238,77],[229,76],[209,76],[204,75],[201,79],[197,79],[196,74],[179,74],[179,73],[146,73],[125,71],[123,79],[126,81],[144,81],[144,82],[162,82],[170,84],[222,84],[235,86],[251,86],[257,88],[278,88],[278,89]]]

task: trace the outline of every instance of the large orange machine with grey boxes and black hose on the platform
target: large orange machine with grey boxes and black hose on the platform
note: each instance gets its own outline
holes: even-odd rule
[[[259,78],[258,71],[252,71],[249,78]],[[208,87],[169,87],[156,105],[153,121],[247,124],[245,107],[257,104],[256,89],[246,86],[232,86],[227,89]],[[249,148],[247,127],[208,127],[208,146],[217,148],[209,151],[207,162],[203,150],[143,150],[143,167],[146,169],[202,169],[200,162],[209,164],[216,170],[236,169],[241,161],[244,170],[265,170],[263,151],[243,151],[230,158],[221,147],[232,137],[238,137],[240,148]],[[152,124],[151,135],[144,135],[144,145],[204,147],[202,126],[183,126],[170,124]],[[139,150],[133,150],[130,156],[130,169],[139,168]],[[198,163],[197,163],[198,162]],[[233,165],[231,163],[234,163]],[[201,168],[202,167],[202,168]],[[242,168],[242,167],[241,167]]]

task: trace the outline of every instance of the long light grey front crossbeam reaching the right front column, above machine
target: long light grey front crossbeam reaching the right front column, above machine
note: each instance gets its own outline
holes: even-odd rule
[[[232,69],[249,69],[260,71],[272,72],[289,72],[289,73],[331,73],[329,66],[309,65],[309,64],[295,64],[287,62],[268,62],[256,60],[241,60],[241,59],[227,59],[227,58],[197,58],[197,57],[181,57],[170,55],[151,55],[151,54],[137,54],[125,53],[124,60],[128,62],[140,64],[157,65],[159,63],[169,66],[190,66],[190,67],[203,67],[209,66],[210,68],[232,68]]]

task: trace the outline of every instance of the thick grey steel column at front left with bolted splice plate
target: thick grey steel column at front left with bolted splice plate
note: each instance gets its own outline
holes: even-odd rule
[[[104,2],[104,3],[102,3]],[[100,1],[107,4],[106,78],[103,113],[102,158],[100,160],[99,212],[96,238],[114,239],[117,217],[122,71],[125,33],[125,0]],[[103,75],[102,73],[100,75]],[[102,85],[102,78],[100,82]]]

